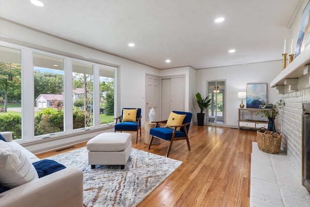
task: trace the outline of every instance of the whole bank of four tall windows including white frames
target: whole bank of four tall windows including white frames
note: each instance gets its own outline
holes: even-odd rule
[[[114,123],[115,67],[0,44],[0,131],[29,141]]]

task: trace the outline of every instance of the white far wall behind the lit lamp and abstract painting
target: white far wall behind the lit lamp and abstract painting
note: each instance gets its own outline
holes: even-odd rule
[[[280,52],[279,52],[280,58]],[[241,64],[216,68],[200,69],[196,72],[197,92],[206,96],[208,81],[226,81],[226,126],[238,126],[238,108],[241,100],[238,92],[247,90],[247,83],[267,83],[267,102],[275,103],[281,96],[270,82],[281,72],[282,61],[254,64]],[[244,100],[246,107],[246,100]],[[277,120],[276,120],[277,121]],[[279,124],[278,126],[279,127]],[[278,130],[278,129],[277,129]]]

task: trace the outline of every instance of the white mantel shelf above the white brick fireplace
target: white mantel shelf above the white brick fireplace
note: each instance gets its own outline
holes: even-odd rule
[[[304,49],[292,63],[281,71],[281,73],[271,81],[271,87],[284,85],[286,79],[297,79],[304,75],[305,67],[310,64],[310,47]]]

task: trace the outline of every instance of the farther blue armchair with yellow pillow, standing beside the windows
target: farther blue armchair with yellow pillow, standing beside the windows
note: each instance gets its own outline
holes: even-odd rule
[[[136,143],[138,143],[138,132],[141,139],[141,109],[123,108],[122,115],[114,118],[114,132],[116,131],[137,131]],[[120,123],[118,123],[118,121]]]

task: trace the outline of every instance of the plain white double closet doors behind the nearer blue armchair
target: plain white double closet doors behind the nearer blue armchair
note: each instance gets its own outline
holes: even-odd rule
[[[184,77],[161,80],[161,118],[169,118],[171,111],[184,111],[185,82]]]

